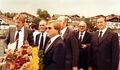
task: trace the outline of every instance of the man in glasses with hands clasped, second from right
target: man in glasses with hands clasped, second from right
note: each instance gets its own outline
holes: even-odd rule
[[[87,32],[87,25],[84,21],[79,22],[79,31],[75,32],[75,36],[79,45],[79,69],[88,70],[88,56],[91,41],[91,35]]]

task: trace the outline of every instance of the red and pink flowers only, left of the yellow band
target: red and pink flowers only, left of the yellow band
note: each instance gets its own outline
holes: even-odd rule
[[[8,49],[6,52],[6,70],[19,70],[24,64],[32,59],[31,55],[32,47],[28,43],[18,50]],[[23,70],[23,69],[22,69]]]

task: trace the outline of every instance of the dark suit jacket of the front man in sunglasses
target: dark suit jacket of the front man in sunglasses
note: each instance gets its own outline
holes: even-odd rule
[[[64,70],[65,54],[65,44],[61,37],[58,37],[45,52],[45,70]]]

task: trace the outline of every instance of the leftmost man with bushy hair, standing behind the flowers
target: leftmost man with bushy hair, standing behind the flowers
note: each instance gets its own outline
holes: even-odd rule
[[[16,49],[19,49],[24,44],[24,41],[28,41],[30,45],[33,45],[34,41],[32,31],[24,27],[25,16],[18,14],[14,17],[14,21],[16,28],[10,28],[8,30],[8,34],[5,39],[6,44],[17,41]]]

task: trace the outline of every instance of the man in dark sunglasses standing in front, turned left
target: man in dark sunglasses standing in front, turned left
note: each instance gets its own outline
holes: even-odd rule
[[[44,70],[65,70],[65,44],[59,35],[60,25],[56,21],[49,21],[47,33],[50,41],[44,55]]]

